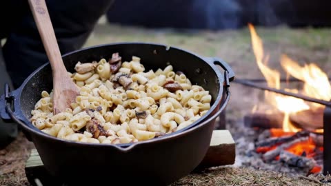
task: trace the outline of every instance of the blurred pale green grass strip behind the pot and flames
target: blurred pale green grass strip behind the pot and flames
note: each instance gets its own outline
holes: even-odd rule
[[[272,68],[280,70],[280,56],[287,54],[301,64],[314,62],[322,68],[331,69],[330,29],[291,29],[279,26],[277,28],[257,27],[256,30],[263,40],[265,55],[270,55],[268,64]],[[118,42],[161,43],[183,48],[202,56],[218,56],[234,68],[238,77],[252,76],[252,74],[255,77],[262,77],[254,59],[248,28],[219,32],[208,30],[184,32],[183,30],[146,29],[100,23],[84,48]],[[248,70],[253,73],[248,74]]]

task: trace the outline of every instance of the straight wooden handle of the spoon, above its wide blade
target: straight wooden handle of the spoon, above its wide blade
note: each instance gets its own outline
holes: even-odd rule
[[[66,72],[45,0],[28,1],[50,65],[52,65],[53,74],[57,76],[58,72]]]

